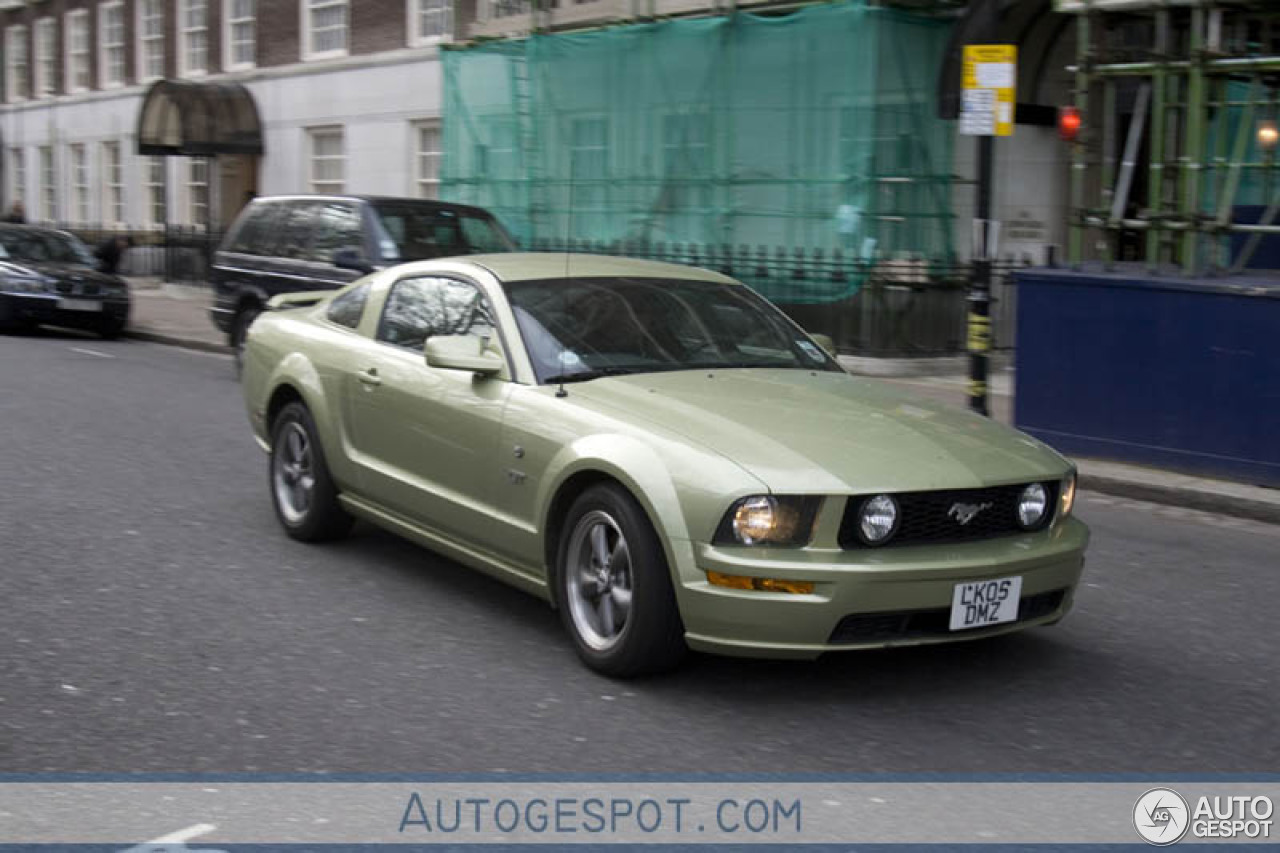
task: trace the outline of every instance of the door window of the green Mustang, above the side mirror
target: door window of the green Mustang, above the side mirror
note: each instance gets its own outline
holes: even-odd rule
[[[493,337],[489,302],[475,284],[452,278],[403,278],[387,295],[378,339],[421,351],[426,339],[440,334]]]

